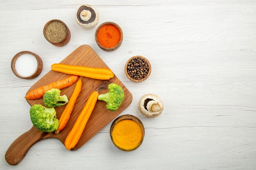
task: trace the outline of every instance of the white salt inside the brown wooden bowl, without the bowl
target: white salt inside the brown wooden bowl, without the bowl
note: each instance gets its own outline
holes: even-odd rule
[[[37,68],[37,60],[34,55],[23,54],[17,58],[15,62],[15,69],[17,73],[23,77],[27,77],[35,73]]]

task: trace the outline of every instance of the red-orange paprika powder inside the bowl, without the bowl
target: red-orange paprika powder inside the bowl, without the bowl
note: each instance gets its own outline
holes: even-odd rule
[[[111,48],[116,46],[121,38],[121,33],[119,29],[112,24],[106,24],[99,28],[97,33],[97,40],[99,44],[106,48]]]

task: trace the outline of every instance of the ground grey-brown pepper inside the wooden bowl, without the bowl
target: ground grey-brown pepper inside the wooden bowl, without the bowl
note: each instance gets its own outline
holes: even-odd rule
[[[59,21],[49,23],[45,28],[45,38],[49,42],[58,43],[62,42],[67,36],[66,26]]]

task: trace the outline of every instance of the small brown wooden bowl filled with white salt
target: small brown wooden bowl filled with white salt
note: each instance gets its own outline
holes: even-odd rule
[[[11,60],[11,70],[19,78],[34,79],[43,70],[43,61],[35,53],[21,51]]]

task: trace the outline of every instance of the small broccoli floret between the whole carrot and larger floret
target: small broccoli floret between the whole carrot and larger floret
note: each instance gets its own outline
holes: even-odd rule
[[[45,92],[45,95],[43,96],[43,100],[45,102],[45,105],[49,108],[52,108],[55,106],[63,106],[68,102],[67,96],[66,95],[61,96],[61,91],[57,88],[52,88],[51,90]],[[65,103],[58,103],[58,102],[65,102]]]

